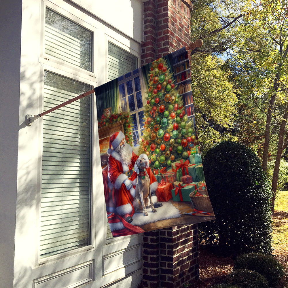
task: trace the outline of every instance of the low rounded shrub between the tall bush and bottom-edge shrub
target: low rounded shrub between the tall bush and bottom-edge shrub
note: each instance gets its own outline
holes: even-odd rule
[[[261,253],[239,255],[234,262],[234,269],[253,270],[266,277],[270,287],[277,287],[284,276],[284,268],[273,256]]]

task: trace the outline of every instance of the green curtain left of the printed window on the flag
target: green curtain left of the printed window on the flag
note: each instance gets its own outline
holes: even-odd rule
[[[119,89],[118,78],[95,88],[97,117],[101,118],[103,110],[111,107],[112,113],[118,113]]]

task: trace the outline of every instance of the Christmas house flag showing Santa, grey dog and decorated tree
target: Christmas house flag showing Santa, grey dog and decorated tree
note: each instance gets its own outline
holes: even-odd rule
[[[95,88],[113,236],[215,219],[185,48]]]

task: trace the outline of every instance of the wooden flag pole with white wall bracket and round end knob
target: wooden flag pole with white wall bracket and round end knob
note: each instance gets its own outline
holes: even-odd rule
[[[202,39],[197,39],[197,40],[194,41],[194,42],[190,42],[188,46],[185,46],[185,49],[192,51],[192,50],[194,50],[196,47],[199,48],[199,47],[201,47],[202,45],[203,45],[203,40],[202,40]],[[88,95],[92,94],[93,92],[95,92],[95,88],[92,89],[92,90],[90,90],[90,91],[87,91],[87,92],[85,92],[85,93],[83,93],[83,94],[81,94],[81,95],[79,95],[79,96],[76,96],[76,97],[74,97],[74,98],[72,98],[72,99],[70,99],[70,100],[68,100],[68,101],[66,101],[66,102],[64,102],[64,103],[62,103],[62,104],[59,104],[59,105],[57,105],[57,106],[55,106],[55,107],[53,107],[53,108],[51,108],[51,109],[49,109],[49,110],[47,110],[47,111],[44,111],[44,112],[42,112],[42,113],[39,113],[39,114],[37,114],[37,115],[34,115],[34,116],[33,116],[33,115],[30,115],[30,114],[27,114],[27,115],[25,115],[26,125],[27,125],[27,126],[31,126],[32,123],[34,122],[34,120],[36,120],[36,119],[38,119],[38,118],[40,118],[40,117],[42,117],[42,116],[44,116],[44,115],[46,115],[46,114],[54,111],[54,110],[57,110],[57,109],[59,109],[59,108],[61,108],[61,107],[64,107],[64,106],[67,105],[67,104],[70,104],[70,103],[72,103],[72,102],[74,102],[74,101],[77,101],[77,100],[79,100],[79,99],[81,99],[81,98],[83,98],[83,97],[85,97],[85,96],[88,96]]]

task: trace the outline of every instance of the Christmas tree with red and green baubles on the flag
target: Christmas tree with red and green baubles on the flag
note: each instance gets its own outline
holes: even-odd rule
[[[166,59],[152,62],[150,70],[141,152],[146,153],[150,165],[158,169],[189,157],[189,143],[195,139],[195,128],[185,115],[182,96]]]

